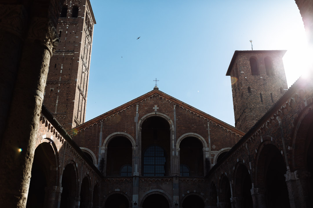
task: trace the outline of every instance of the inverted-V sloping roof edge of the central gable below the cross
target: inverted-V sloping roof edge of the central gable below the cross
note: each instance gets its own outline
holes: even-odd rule
[[[211,115],[209,115],[207,113],[204,113],[203,111],[201,111],[201,110],[199,110],[199,109],[197,109],[195,107],[192,107],[191,105],[188,105],[188,104],[186,104],[186,103],[184,103],[184,102],[182,102],[182,101],[180,101],[180,100],[178,100],[178,99],[176,99],[176,98],[174,98],[174,97],[172,97],[172,96],[170,96],[170,95],[168,95],[168,94],[166,94],[166,93],[164,93],[164,92],[162,92],[162,91],[160,91],[158,89],[153,89],[153,90],[151,90],[150,92],[148,92],[146,94],[143,94],[143,95],[141,95],[141,96],[139,96],[139,97],[137,97],[137,98],[135,98],[135,99],[133,99],[133,100],[123,104],[123,105],[120,105],[119,107],[116,107],[115,109],[112,109],[112,110],[110,110],[110,111],[108,111],[108,112],[106,112],[104,114],[101,114],[101,115],[95,117],[94,119],[91,119],[91,120],[89,120],[89,121],[87,121],[85,123],[82,123],[79,126],[76,126],[75,128],[72,128],[71,130],[69,130],[68,133],[71,134],[75,130],[86,128],[86,127],[92,125],[93,123],[99,122],[100,120],[103,120],[106,117],[108,117],[108,116],[110,116],[112,114],[115,114],[115,113],[119,112],[120,110],[127,108],[130,105],[136,104],[139,101],[141,101],[142,99],[144,99],[146,97],[149,97],[149,96],[151,96],[153,94],[160,94],[161,96],[174,101],[178,105],[181,105],[181,106],[183,106],[183,107],[185,107],[187,109],[192,110],[193,112],[197,113],[200,116],[203,116],[204,118],[207,118],[208,120],[211,120],[211,121],[213,121],[215,123],[221,124],[225,128],[228,128],[229,130],[233,131],[234,133],[237,133],[237,134],[239,134],[241,136],[243,136],[245,134],[243,131],[240,131],[239,129],[229,125],[228,123],[225,123],[225,122],[223,122],[223,121],[221,121],[221,120],[219,120],[219,119],[217,119],[217,118],[215,118],[215,117],[213,117],[213,116],[211,116]]]

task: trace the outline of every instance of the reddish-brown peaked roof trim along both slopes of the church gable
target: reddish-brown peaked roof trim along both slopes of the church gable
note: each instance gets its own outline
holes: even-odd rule
[[[216,125],[219,125],[220,127],[227,129],[227,131],[231,131],[237,135],[239,135],[240,137],[243,136],[245,133],[240,131],[239,129],[229,125],[228,123],[225,123],[207,113],[204,113],[203,111],[196,109],[195,107],[192,107],[191,105],[188,105],[158,89],[153,89],[150,92],[143,94],[141,96],[139,96],[138,98],[135,98],[115,109],[112,109],[104,114],[101,114],[100,116],[95,117],[94,119],[91,119],[75,128],[72,128],[71,130],[68,131],[69,135],[73,135],[75,132],[78,132],[82,129],[85,128],[89,128],[90,126],[93,126],[95,123],[98,123],[101,120],[104,120],[110,116],[114,116],[114,114],[118,114],[119,112],[121,112],[122,110],[126,110],[127,108],[130,108],[132,105],[138,104],[146,99],[150,99],[150,97],[154,96],[154,95],[158,95],[164,99],[169,100],[170,102],[173,102],[175,104],[177,104],[178,106],[182,107],[183,109],[187,109],[188,111],[197,114],[200,116],[200,118],[203,119],[207,119],[208,121],[211,121],[213,123],[215,123]]]

